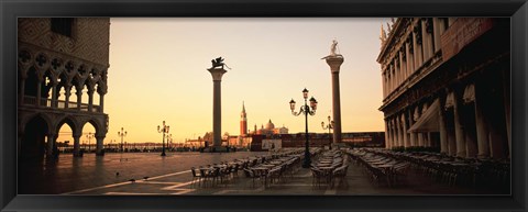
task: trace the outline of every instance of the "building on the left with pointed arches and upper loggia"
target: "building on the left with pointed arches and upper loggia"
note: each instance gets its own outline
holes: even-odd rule
[[[91,124],[97,154],[108,131],[109,18],[18,20],[18,152],[22,158],[57,153],[64,124],[81,156],[82,127]],[[95,101],[98,99],[98,101]]]

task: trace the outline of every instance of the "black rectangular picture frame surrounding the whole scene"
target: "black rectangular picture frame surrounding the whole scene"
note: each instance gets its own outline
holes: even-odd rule
[[[1,211],[526,211],[526,0],[0,0]],[[16,194],[16,18],[20,16],[509,16],[512,196],[108,197]],[[359,29],[360,30],[360,29]]]

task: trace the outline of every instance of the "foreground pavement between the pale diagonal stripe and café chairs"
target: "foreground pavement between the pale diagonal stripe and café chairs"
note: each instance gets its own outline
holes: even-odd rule
[[[205,164],[204,164],[205,165]],[[164,196],[164,194],[190,194],[190,196],[215,196],[215,194],[270,194],[270,196],[376,196],[376,194],[483,194],[490,191],[475,190],[472,188],[461,188],[443,185],[432,181],[428,176],[424,176],[416,169],[411,169],[406,180],[400,183],[388,187],[385,182],[371,181],[364,171],[355,163],[351,163],[346,172],[345,181],[337,183],[333,188],[330,186],[312,185],[310,169],[300,168],[290,177],[285,177],[279,182],[274,182],[267,187],[246,178],[243,171],[239,170],[238,177],[227,180],[223,183],[206,186],[193,183],[190,170],[183,170],[161,176],[153,176],[146,180],[139,178],[134,182],[125,181],[110,183],[101,187],[81,189],[68,194],[117,194],[117,196]]]

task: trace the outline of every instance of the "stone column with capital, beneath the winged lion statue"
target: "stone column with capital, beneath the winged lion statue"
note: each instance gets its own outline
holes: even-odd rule
[[[212,145],[218,149],[222,146],[222,76],[228,72],[223,67],[207,69],[212,76]]]

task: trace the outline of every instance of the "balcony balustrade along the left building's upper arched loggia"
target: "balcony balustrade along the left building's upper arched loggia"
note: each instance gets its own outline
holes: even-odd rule
[[[37,107],[37,108],[51,108],[51,109],[58,109],[58,110],[72,110],[72,111],[84,111],[84,112],[92,112],[92,113],[102,113],[100,105],[91,105],[91,111],[89,110],[89,104],[80,103],[80,108],[78,108],[77,102],[66,102],[64,100],[56,100],[54,105],[54,101],[52,99],[41,98],[41,104],[37,104],[36,97],[24,96],[24,101],[22,105],[24,107]],[[66,108],[67,105],[67,108]]]

